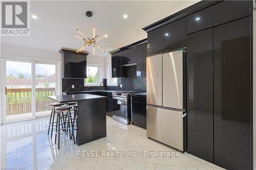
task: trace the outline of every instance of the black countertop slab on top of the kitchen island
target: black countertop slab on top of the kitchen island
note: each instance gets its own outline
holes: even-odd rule
[[[84,101],[84,100],[97,100],[97,99],[107,99],[106,96],[93,95],[93,94],[68,94],[68,95],[52,95],[49,96],[50,99],[58,102],[74,102],[74,101]]]

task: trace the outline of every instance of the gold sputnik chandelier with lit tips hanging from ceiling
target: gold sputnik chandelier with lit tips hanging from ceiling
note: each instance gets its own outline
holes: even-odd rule
[[[91,11],[87,11],[86,12],[86,16],[88,17],[91,17],[93,16],[93,13]],[[73,36],[79,38],[79,39],[82,39],[84,41],[84,45],[81,46],[77,51],[76,53],[82,51],[84,48],[90,46],[90,45],[93,45],[93,56],[95,56],[95,46],[98,47],[102,52],[105,52],[103,50],[103,48],[101,46],[99,46],[98,44],[96,44],[97,41],[101,40],[102,38],[105,38],[105,37],[108,37],[108,35],[104,35],[103,37],[99,38],[96,40],[96,37],[98,37],[98,35],[95,36],[95,26],[93,26],[93,38],[88,38],[86,35],[84,35],[82,32],[80,32],[78,29],[76,29],[77,32],[79,32],[83,38],[73,34]]]

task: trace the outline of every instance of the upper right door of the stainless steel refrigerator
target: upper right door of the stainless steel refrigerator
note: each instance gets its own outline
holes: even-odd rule
[[[183,109],[183,50],[163,54],[163,106]]]

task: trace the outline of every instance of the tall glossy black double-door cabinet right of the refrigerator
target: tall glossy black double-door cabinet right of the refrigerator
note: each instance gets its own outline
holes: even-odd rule
[[[187,152],[252,165],[250,17],[187,35]]]

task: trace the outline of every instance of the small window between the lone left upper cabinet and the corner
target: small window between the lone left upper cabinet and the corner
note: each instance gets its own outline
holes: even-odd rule
[[[86,85],[99,85],[100,84],[100,65],[87,64],[87,79]]]

